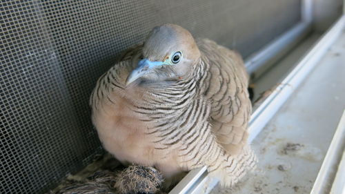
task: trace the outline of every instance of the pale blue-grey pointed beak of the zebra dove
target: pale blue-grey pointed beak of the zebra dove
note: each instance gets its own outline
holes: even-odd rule
[[[126,86],[128,86],[133,81],[139,79],[143,75],[146,75],[150,70],[163,66],[163,61],[149,61],[148,59],[142,59],[139,61],[137,68],[130,72],[126,79]]]

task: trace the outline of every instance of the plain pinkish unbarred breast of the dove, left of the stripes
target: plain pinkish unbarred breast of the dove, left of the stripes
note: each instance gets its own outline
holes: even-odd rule
[[[150,165],[152,139],[146,135],[148,123],[141,119],[144,117],[120,96],[111,97],[111,101],[104,99],[92,113],[92,122],[107,151],[121,162]]]

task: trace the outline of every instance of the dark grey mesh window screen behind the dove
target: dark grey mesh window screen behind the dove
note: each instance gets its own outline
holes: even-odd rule
[[[177,23],[248,56],[300,0],[1,1],[0,193],[44,193],[101,152],[88,97],[124,48]]]

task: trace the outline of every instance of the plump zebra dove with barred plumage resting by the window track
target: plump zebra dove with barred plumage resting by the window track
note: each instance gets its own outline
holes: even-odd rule
[[[103,147],[165,180],[207,166],[224,187],[255,167],[248,144],[248,73],[241,55],[176,24],[121,53],[90,96]]]

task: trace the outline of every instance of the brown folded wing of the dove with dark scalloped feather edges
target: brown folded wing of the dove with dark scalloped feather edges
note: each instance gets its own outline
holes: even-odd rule
[[[198,46],[202,60],[208,64],[203,90],[212,106],[212,132],[228,153],[237,154],[246,144],[251,113],[244,62],[237,52],[214,41],[202,39]]]

